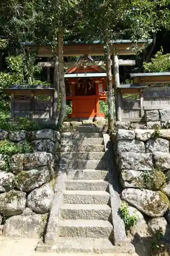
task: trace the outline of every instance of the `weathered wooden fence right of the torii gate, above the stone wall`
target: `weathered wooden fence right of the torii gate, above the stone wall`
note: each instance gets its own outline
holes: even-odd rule
[[[144,88],[140,93],[122,93],[122,120],[143,121],[144,111],[170,109],[170,87]]]

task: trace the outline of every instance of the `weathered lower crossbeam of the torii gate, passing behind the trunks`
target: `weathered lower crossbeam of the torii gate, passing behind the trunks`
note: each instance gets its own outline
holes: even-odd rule
[[[134,66],[135,65],[135,60],[123,60],[123,59],[119,59],[118,60],[118,65],[119,66]],[[106,66],[105,61],[68,61],[68,62],[64,62],[64,67],[65,68],[72,68],[72,67],[78,67],[78,66],[83,66],[83,67],[87,67],[87,66]],[[53,68],[54,67],[54,61],[46,61],[46,62],[38,62],[38,67],[41,68]]]

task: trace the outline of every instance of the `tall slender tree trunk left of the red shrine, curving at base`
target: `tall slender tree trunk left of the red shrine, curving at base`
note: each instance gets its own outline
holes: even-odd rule
[[[59,57],[59,80],[60,80],[60,93],[61,93],[61,110],[57,123],[57,130],[60,129],[66,114],[66,93],[64,82],[64,58],[63,58],[63,31],[58,32],[58,57]]]

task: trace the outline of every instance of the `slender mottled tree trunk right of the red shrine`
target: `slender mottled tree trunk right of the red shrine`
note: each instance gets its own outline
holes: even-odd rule
[[[108,129],[113,130],[114,123],[114,97],[112,88],[112,69],[110,58],[110,45],[108,39],[105,40],[105,58],[106,58],[106,74],[107,74],[107,91],[108,91]]]

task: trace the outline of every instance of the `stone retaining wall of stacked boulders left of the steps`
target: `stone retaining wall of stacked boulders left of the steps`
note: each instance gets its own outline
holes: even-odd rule
[[[11,157],[10,170],[6,169],[5,155],[0,154],[1,233],[10,238],[39,238],[54,197],[60,134],[51,129],[1,130],[0,140],[18,145],[27,141],[33,146],[32,153]]]

